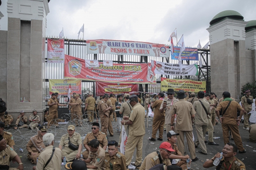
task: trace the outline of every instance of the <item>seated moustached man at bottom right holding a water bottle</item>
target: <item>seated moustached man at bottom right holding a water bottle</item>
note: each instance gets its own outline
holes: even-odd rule
[[[225,170],[246,170],[245,168],[245,164],[238,160],[238,158],[236,158],[236,154],[238,152],[238,147],[233,144],[233,143],[228,143],[224,146],[224,148],[222,149],[222,153],[223,153],[223,158],[221,159],[221,161],[219,162],[219,165],[216,166],[217,167],[225,167]],[[211,158],[209,161],[204,162],[203,164],[203,168],[210,168],[213,167],[213,161],[216,158],[220,158],[220,153],[217,153],[213,158]],[[228,168],[229,167],[229,168]]]

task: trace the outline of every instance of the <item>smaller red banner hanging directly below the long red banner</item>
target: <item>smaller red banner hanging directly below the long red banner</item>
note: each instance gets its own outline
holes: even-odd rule
[[[137,92],[137,84],[119,84],[119,83],[102,83],[96,82],[96,96],[108,94],[124,94]]]

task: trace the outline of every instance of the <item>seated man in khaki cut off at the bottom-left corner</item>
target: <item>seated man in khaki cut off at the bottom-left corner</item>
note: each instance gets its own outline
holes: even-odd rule
[[[23,163],[18,154],[6,144],[6,140],[0,135],[0,169],[1,170],[23,170]],[[9,168],[10,161],[18,163],[18,168]]]

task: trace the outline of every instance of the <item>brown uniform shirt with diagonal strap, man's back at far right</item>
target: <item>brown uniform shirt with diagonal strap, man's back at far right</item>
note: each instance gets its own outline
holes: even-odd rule
[[[220,111],[222,109],[222,112],[223,112],[228,106],[228,104],[229,104],[229,101],[220,102],[219,106],[217,107],[217,110]],[[237,120],[235,120],[235,119],[238,119],[237,110],[241,111],[244,109],[238,102],[232,101],[229,105],[229,108],[224,113],[225,118],[222,119],[222,123],[237,125]]]

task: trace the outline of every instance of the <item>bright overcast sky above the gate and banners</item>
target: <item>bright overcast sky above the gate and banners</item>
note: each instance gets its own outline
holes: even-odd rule
[[[7,30],[7,0],[2,0],[0,30]],[[236,10],[245,21],[256,20],[256,0],[51,0],[46,35],[84,39],[165,43],[177,28],[186,46],[209,41],[210,20],[223,10]],[[82,33],[80,34],[82,38]],[[174,44],[176,39],[174,38]]]

